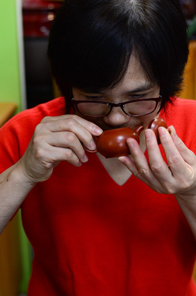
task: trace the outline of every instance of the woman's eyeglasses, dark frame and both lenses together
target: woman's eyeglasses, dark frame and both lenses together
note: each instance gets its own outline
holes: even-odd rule
[[[161,97],[161,94],[159,94],[158,98],[137,99],[118,104],[98,101],[74,101],[74,98],[71,101],[75,109],[83,116],[104,117],[110,114],[113,107],[121,107],[126,115],[137,117],[154,112],[161,101]]]

